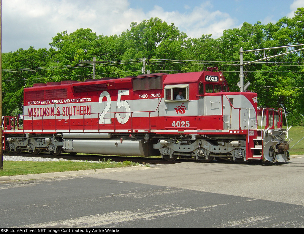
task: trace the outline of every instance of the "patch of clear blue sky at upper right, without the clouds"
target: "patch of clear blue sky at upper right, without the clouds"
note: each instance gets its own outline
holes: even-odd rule
[[[209,2],[207,4],[206,2]],[[161,6],[165,11],[191,12],[193,8],[203,4],[211,11],[219,10],[235,17],[239,23],[256,23],[258,20],[274,20],[287,16],[294,0],[131,0],[130,7],[148,12],[154,5]],[[302,2],[304,7],[304,2]]]

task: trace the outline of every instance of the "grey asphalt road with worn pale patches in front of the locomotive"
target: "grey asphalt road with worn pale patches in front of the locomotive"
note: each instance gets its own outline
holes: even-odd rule
[[[0,183],[0,227],[304,227],[304,158]]]

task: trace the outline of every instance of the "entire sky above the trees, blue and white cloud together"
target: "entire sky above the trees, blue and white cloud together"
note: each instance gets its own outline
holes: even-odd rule
[[[243,22],[267,24],[292,17],[298,7],[304,7],[304,0],[2,0],[2,52],[49,49],[57,33],[79,28],[120,34],[131,22],[156,16],[188,37],[218,38]]]

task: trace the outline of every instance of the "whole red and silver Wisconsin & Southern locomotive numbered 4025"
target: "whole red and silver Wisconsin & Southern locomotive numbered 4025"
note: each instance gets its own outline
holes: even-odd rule
[[[256,93],[229,92],[222,72],[209,68],[34,84],[24,89],[24,115],[4,117],[3,133],[14,153],[286,162],[283,116],[258,110]]]

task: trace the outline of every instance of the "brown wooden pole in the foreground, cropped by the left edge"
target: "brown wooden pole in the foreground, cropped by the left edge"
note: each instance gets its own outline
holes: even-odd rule
[[[0,0],[0,170],[3,170],[2,147],[2,0]]]

